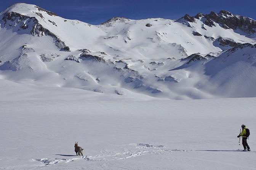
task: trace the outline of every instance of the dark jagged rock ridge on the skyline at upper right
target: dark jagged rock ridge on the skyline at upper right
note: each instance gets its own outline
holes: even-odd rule
[[[194,17],[186,14],[177,21],[182,21],[182,19],[188,22],[196,22],[196,19],[200,19],[205,25],[208,25],[209,27],[216,26],[214,24],[214,22],[216,22],[224,29],[241,29],[249,35],[256,33],[256,21],[254,19],[245,16],[234,15],[225,10],[221,10],[219,13],[215,13],[213,11],[211,11],[210,14],[198,13]]]

